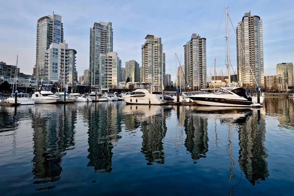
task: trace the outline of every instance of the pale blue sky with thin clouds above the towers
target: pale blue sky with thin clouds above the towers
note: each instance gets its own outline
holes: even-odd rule
[[[276,64],[294,60],[294,1],[292,0],[0,0],[0,61],[32,74],[36,58],[36,26],[39,18],[62,16],[64,39],[77,51],[76,69],[89,68],[90,28],[95,22],[112,22],[113,48],[125,62],[142,62],[141,45],[147,34],[162,38],[166,73],[175,78],[175,53],[184,64],[184,48],[192,33],[206,38],[207,74],[227,73],[224,7],[228,8],[229,47],[236,72],[234,29],[245,12],[263,20],[265,75],[276,74]],[[218,28],[220,30],[218,33]],[[177,66],[179,63],[177,62]],[[234,72],[231,70],[231,74]]]

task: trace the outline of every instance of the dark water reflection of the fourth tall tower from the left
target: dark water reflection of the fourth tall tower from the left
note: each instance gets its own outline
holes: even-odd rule
[[[187,135],[185,147],[191,153],[193,160],[206,157],[208,151],[207,118],[186,114],[184,126]]]

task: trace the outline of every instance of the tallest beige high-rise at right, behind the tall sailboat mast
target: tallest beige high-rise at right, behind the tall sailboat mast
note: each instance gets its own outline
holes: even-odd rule
[[[260,17],[245,13],[236,27],[236,37],[238,81],[254,87],[256,79],[258,85],[264,86],[263,28]]]

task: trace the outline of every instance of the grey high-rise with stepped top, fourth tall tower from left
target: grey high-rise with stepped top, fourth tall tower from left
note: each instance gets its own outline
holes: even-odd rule
[[[191,89],[206,88],[206,38],[193,33],[184,45],[185,77]]]

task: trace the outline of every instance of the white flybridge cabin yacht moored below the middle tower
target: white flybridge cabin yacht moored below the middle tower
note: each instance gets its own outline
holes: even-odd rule
[[[166,103],[162,96],[161,87],[153,86],[151,83],[138,83],[137,87],[137,90],[133,91],[132,94],[123,96],[126,103],[148,105]]]

